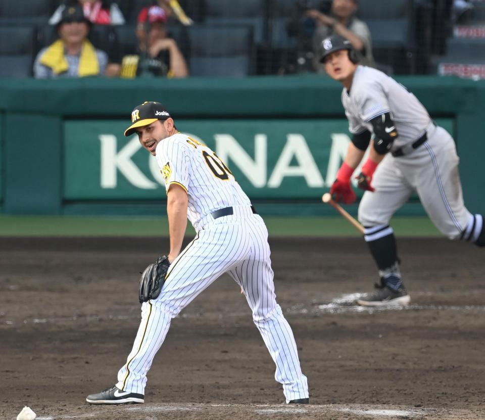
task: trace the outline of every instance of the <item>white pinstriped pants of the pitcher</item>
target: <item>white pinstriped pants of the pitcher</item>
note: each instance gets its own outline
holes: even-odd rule
[[[268,231],[263,219],[247,208],[204,226],[173,261],[160,296],[141,306],[141,323],[116,386],[144,394],[147,373],[170,321],[221,274],[228,272],[245,292],[253,320],[276,364],[275,379],[286,402],[308,398],[292,329],[276,303]]]

